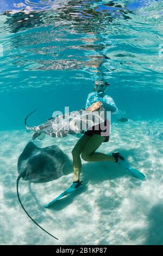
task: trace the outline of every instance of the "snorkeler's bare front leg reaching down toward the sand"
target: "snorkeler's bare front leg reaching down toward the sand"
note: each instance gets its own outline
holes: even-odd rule
[[[72,150],[72,157],[73,157],[73,171],[74,171],[74,176],[73,176],[73,181],[77,181],[80,178],[80,172],[82,169],[82,162],[80,159],[80,154],[82,153],[85,145],[89,141],[90,137],[87,135],[83,135],[75,147]]]

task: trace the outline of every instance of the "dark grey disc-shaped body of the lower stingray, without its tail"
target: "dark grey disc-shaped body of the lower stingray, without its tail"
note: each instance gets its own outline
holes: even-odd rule
[[[17,162],[18,173],[25,172],[25,180],[48,182],[71,172],[71,161],[57,146],[39,148],[29,142]]]

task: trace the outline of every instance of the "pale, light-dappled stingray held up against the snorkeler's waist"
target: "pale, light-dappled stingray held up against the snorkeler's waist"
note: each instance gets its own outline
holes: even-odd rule
[[[42,139],[42,134],[51,137],[66,137],[68,134],[83,133],[84,130],[90,130],[92,126],[102,124],[105,120],[105,110],[103,107],[93,112],[86,111],[85,109],[72,111],[65,115],[49,118],[45,123],[33,127],[27,125],[29,115],[25,119],[25,125],[27,130],[34,131],[32,139],[37,137]]]

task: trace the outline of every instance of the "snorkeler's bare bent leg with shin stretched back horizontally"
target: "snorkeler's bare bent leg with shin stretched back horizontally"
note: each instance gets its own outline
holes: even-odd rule
[[[82,159],[87,162],[115,162],[114,156],[108,156],[103,153],[95,153],[95,150],[98,149],[104,141],[105,137],[97,134],[92,135],[83,149]]]

